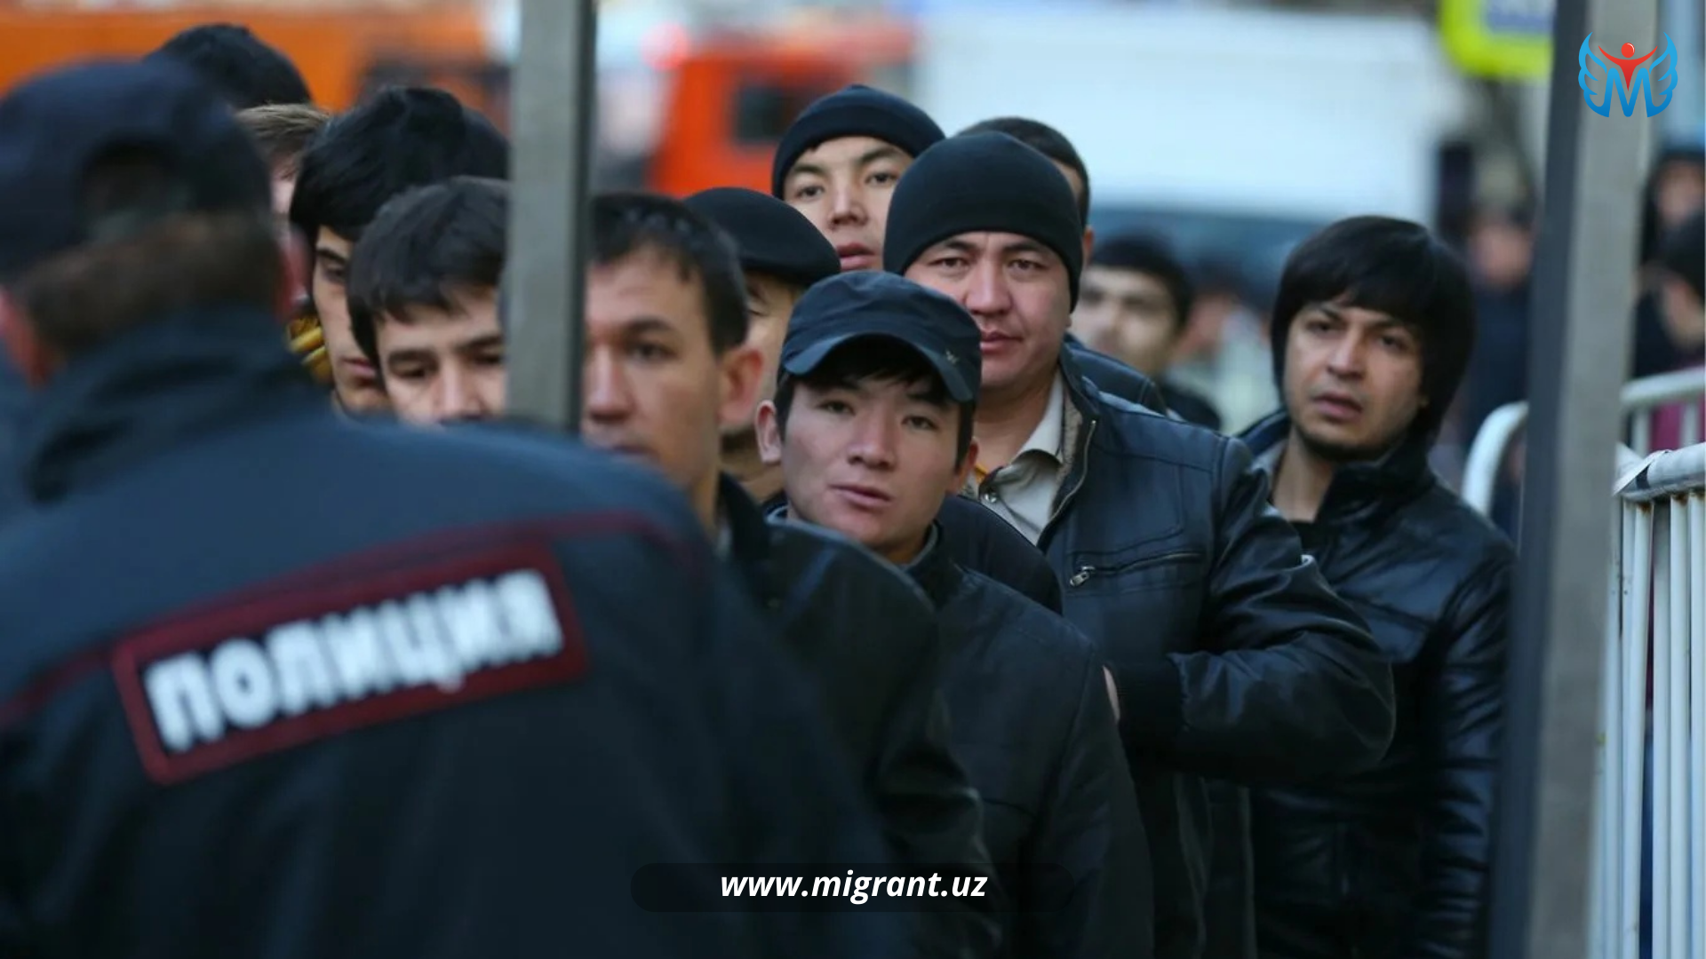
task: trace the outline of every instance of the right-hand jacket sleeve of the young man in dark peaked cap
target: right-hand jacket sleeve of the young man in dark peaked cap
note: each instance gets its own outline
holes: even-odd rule
[[[1015,898],[1039,911],[1015,916],[1008,956],[1155,956],[1150,848],[1100,667],[1085,671],[1025,860],[1029,887]]]

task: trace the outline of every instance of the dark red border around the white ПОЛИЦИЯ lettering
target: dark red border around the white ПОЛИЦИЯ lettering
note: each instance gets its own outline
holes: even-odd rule
[[[520,570],[537,572],[544,577],[551,594],[563,643],[549,657],[476,669],[467,672],[454,691],[445,691],[440,686],[411,686],[389,693],[368,693],[358,701],[329,708],[310,706],[302,715],[276,718],[258,729],[246,730],[227,724],[218,742],[196,744],[177,754],[169,754],[160,742],[154,710],[142,684],[143,669],[155,662],[191,650],[210,652],[234,638],[261,642],[273,626],[377,606],[384,601]],[[548,541],[537,539],[534,543],[508,543],[454,560],[372,570],[358,580],[300,584],[292,589],[275,585],[268,596],[242,606],[181,616],[126,636],[113,648],[111,665],[142,764],[154,782],[169,785],[355,729],[534,686],[566,683],[587,671],[587,645],[568,584],[551,555],[551,546]]]

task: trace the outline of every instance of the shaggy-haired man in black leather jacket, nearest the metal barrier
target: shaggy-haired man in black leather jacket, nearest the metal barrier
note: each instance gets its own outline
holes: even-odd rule
[[[1486,959],[1515,551],[1428,469],[1474,341],[1462,263],[1358,217],[1286,263],[1285,410],[1245,435],[1273,503],[1392,664],[1378,766],[1250,795],[1262,959]]]

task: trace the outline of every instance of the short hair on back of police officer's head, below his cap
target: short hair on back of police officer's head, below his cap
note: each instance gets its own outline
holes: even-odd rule
[[[164,157],[114,150],[84,176],[80,206],[92,222],[133,220],[177,186]],[[7,292],[48,346],[75,357],[172,312],[234,305],[271,312],[283,285],[276,220],[256,206],[164,215],[121,239],[51,256]]]

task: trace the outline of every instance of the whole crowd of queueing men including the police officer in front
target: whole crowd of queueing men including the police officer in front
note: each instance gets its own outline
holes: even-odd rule
[[[855,85],[769,193],[592,200],[572,440],[503,135],[297,87],[200,27],[0,99],[0,956],[1486,959],[1515,553],[1428,468],[1428,229],[1303,242],[1221,435],[1065,137]]]

